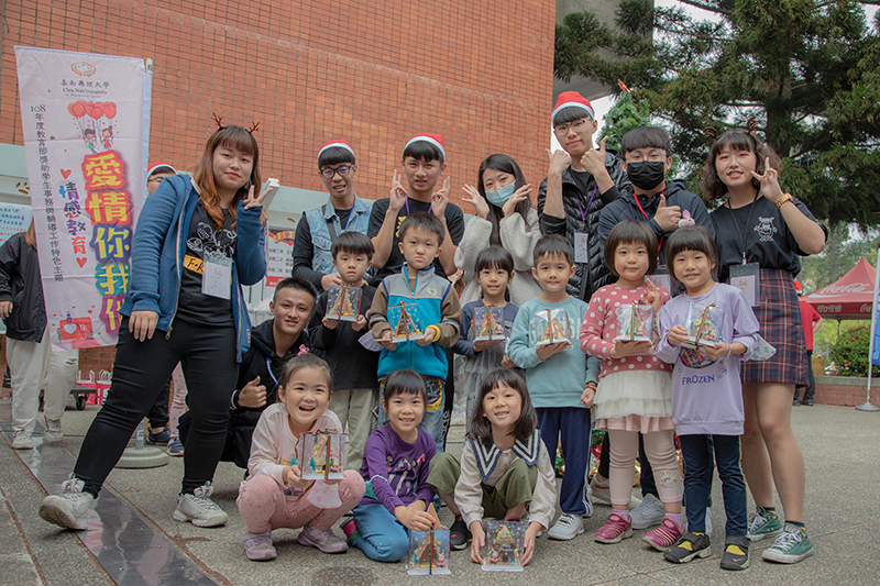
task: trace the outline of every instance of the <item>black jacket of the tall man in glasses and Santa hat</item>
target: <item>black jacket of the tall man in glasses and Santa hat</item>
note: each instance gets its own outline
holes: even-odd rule
[[[593,187],[596,185],[595,178],[590,178],[586,194],[582,194],[578,183],[572,178],[571,168],[562,173],[564,219],[544,215],[543,213],[543,206],[547,201],[547,178],[541,181],[541,187],[538,190],[538,214],[541,221],[541,232],[544,234],[561,234],[569,239],[572,245],[574,244],[575,232],[590,234],[590,263],[578,264],[578,270],[569,280],[568,286],[569,295],[584,301],[590,301],[596,289],[614,280],[614,275],[605,266],[605,261],[602,258],[598,241],[600,214],[603,208],[617,199],[622,192],[631,191],[629,177],[626,176],[626,173],[620,167],[620,159],[613,152],[606,152],[605,154],[605,168],[608,169],[614,187],[604,194],[596,194],[597,197],[593,198],[590,210],[586,210],[586,206],[590,203],[590,194],[593,192]],[[579,202],[581,203],[580,208],[578,207]],[[586,211],[586,221],[581,217],[581,209]]]

